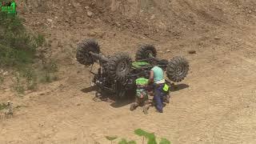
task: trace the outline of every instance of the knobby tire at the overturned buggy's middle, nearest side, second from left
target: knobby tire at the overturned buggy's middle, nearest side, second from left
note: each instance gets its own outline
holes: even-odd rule
[[[107,73],[110,78],[122,82],[130,72],[131,63],[132,60],[129,54],[114,54],[107,62]]]

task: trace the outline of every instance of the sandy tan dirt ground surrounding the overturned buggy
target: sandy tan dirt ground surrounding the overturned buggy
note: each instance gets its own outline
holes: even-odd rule
[[[2,102],[21,108],[0,122],[0,143],[106,144],[107,135],[141,142],[138,128],[172,143],[256,143],[253,0],[28,2],[20,2],[20,15],[46,35],[59,79],[21,98],[1,91]],[[104,54],[134,56],[138,44],[152,43],[159,58],[187,58],[190,72],[163,114],[131,112],[129,102],[100,101],[88,89],[90,67],[74,59],[84,38],[97,38]]]

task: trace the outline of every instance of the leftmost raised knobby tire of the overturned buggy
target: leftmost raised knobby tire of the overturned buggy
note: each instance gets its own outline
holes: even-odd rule
[[[95,54],[100,53],[98,42],[96,42],[94,39],[86,39],[78,43],[76,54],[77,61],[85,66],[92,65],[97,61],[97,59],[93,58],[89,52],[94,52]]]

